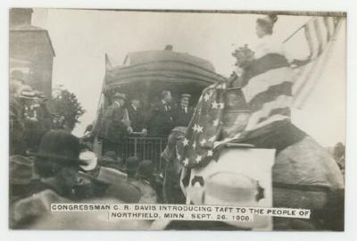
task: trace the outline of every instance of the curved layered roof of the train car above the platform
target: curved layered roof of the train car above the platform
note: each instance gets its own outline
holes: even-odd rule
[[[224,78],[214,71],[211,62],[171,50],[129,53],[123,65],[105,72],[106,88],[147,81],[195,82],[208,86],[220,79]]]

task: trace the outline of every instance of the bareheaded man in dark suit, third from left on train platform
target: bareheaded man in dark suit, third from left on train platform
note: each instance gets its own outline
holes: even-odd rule
[[[174,127],[172,117],[172,96],[170,91],[162,91],[162,99],[154,105],[150,119],[150,135],[152,137],[167,137]]]

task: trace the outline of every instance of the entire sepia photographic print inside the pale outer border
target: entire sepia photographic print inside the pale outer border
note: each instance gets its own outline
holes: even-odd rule
[[[9,229],[345,230],[346,12],[8,11]]]

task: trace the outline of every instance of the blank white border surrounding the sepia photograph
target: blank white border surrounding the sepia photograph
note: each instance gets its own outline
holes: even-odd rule
[[[0,2],[0,110],[1,112],[1,215],[2,240],[356,240],[357,184],[357,8],[353,0],[2,0]],[[347,139],[345,232],[218,232],[218,231],[12,231],[8,227],[8,9],[9,7],[71,7],[126,9],[284,10],[347,12]],[[59,23],[60,24],[60,23]]]

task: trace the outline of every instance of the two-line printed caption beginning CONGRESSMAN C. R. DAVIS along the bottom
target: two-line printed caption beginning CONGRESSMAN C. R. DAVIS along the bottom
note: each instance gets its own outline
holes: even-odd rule
[[[185,204],[51,204],[51,212],[108,212],[110,220],[253,221],[254,215],[310,219],[311,211],[293,208]]]

